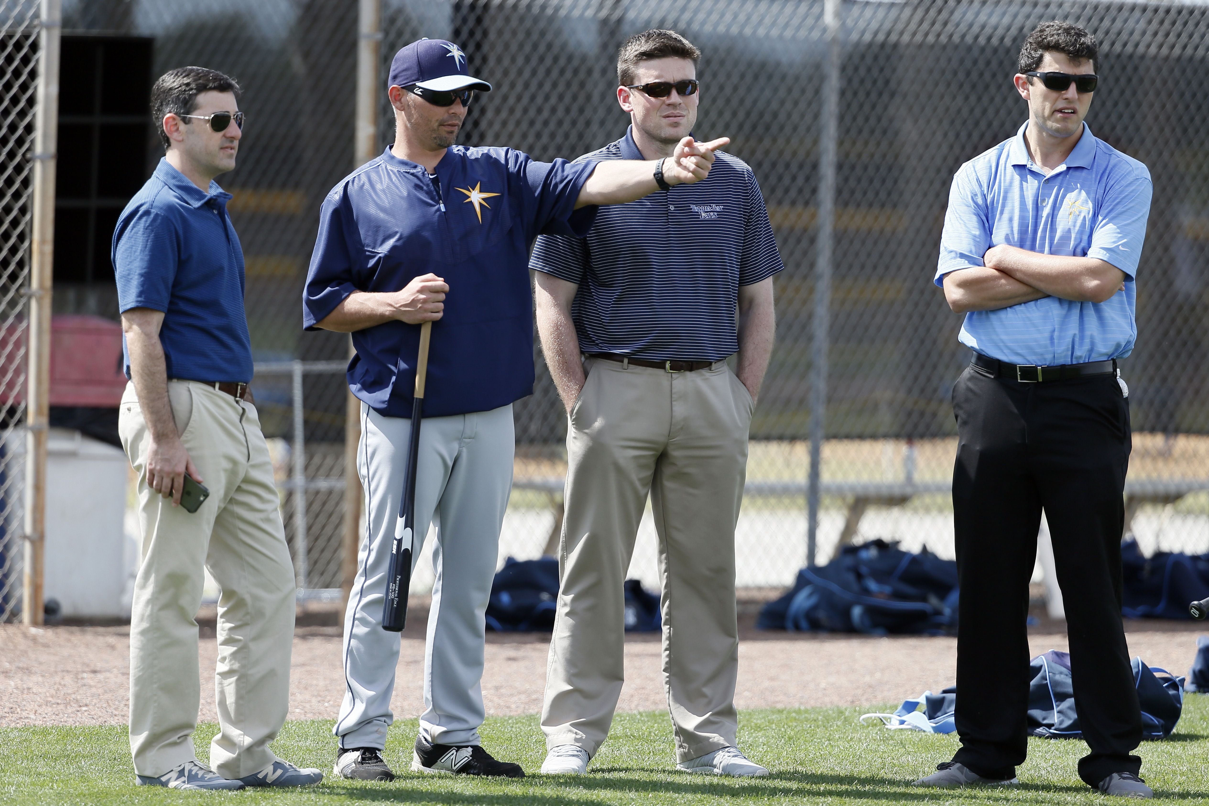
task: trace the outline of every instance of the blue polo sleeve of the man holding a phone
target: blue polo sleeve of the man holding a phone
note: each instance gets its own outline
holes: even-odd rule
[[[112,259],[120,312],[168,312],[180,263],[180,233],[170,220],[146,207],[123,215],[114,231]]]

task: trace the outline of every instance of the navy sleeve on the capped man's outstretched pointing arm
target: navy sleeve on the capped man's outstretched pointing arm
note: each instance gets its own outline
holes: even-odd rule
[[[514,151],[510,170],[520,175],[525,193],[526,232],[538,234],[585,236],[596,220],[595,207],[575,209],[584,182],[596,170],[595,162],[537,162]]]

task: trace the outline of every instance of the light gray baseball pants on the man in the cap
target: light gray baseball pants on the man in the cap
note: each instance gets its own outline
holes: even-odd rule
[[[345,701],[332,732],[340,746],[386,747],[399,633],[382,630],[391,541],[403,499],[411,421],[361,404],[357,465],[365,534],[345,614]],[[513,486],[513,407],[426,417],[416,474],[416,547],[435,523],[433,604],[424,648],[420,732],[440,744],[479,744],[482,724],[484,614]],[[409,680],[409,683],[411,683]]]

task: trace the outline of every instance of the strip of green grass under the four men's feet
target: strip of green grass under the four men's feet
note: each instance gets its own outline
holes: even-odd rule
[[[1075,764],[1086,752],[1076,741],[1030,740],[1022,785],[1010,790],[919,790],[910,781],[953,754],[955,736],[889,731],[860,725],[857,708],[748,711],[740,717],[740,744],[765,764],[762,779],[723,779],[675,771],[671,729],[663,713],[621,714],[608,742],[583,777],[531,775],[520,781],[470,779],[406,772],[393,783],[332,778],[331,723],[285,726],[273,749],[296,764],[317,766],[328,778],[306,790],[245,789],[236,793],[180,793],[133,785],[126,731],[105,727],[0,727],[2,804],[1084,804],[1105,802],[1078,781]],[[198,736],[210,736],[204,725]],[[407,769],[416,723],[397,723],[386,759]],[[484,744],[497,756],[537,772],[543,746],[536,717],[492,718]],[[198,748],[203,753],[206,747]],[[1209,804],[1209,697],[1190,696],[1175,735],[1147,742],[1139,753],[1143,777],[1158,798]],[[1117,801],[1117,799],[1112,799]],[[1117,801],[1120,802],[1120,801]]]

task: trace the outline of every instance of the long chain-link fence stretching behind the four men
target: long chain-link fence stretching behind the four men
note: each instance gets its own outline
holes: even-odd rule
[[[956,341],[960,318],[931,282],[949,182],[962,162],[1024,121],[1011,76],[1028,31],[1054,18],[1087,27],[1103,56],[1088,124],[1145,162],[1156,191],[1138,280],[1139,340],[1122,365],[1135,429],[1129,530],[1147,553],[1209,550],[1209,6],[839,4],[829,324],[820,340],[812,326],[831,52],[823,11],[823,0],[383,0],[380,75],[384,83],[391,57],[406,42],[451,39],[494,85],[476,99],[461,143],[572,158],[625,131],[614,65],[626,36],[673,28],[702,50],[696,134],[730,137],[728,150],[752,166],[786,263],[737,533],[740,586],[776,587],[808,561],[811,370],[820,355],[827,358],[827,404],[818,412],[826,441],[816,559],[826,562],[839,543],[878,537],[951,556],[949,392],[968,352]],[[301,332],[299,302],[320,201],[354,167],[357,4],[65,0],[64,28],[65,41],[102,33],[154,37],[154,75],[201,64],[243,85],[239,168],[221,182],[235,195],[230,209],[247,255],[255,358],[278,367],[258,372],[255,392],[273,439],[300,586],[336,587],[345,387],[329,370],[303,367],[297,376],[293,361],[325,367],[347,354],[343,336]],[[5,230],[4,289],[24,282],[19,201],[28,168],[7,155],[21,151],[10,145],[15,139],[28,138],[19,121],[28,121],[31,89],[17,87],[31,70],[31,42],[21,33],[5,36],[5,53],[16,56],[5,57],[10,139],[0,192],[5,220],[15,225]],[[393,115],[384,88],[381,97],[384,147]],[[160,153],[149,139],[147,173]],[[56,307],[116,317],[111,283],[100,280],[57,285]],[[516,424],[516,489],[501,559],[539,556],[560,517],[565,414],[540,356],[534,394],[517,404]],[[295,446],[302,445],[299,462]],[[300,489],[305,497],[295,500]],[[649,517],[634,562],[631,575],[655,581]],[[413,590],[430,579],[422,562]]]

